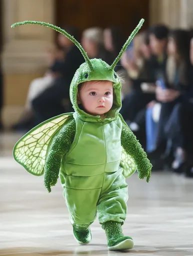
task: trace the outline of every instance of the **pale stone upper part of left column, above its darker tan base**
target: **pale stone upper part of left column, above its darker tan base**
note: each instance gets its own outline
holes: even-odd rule
[[[34,73],[45,67],[45,50],[52,44],[53,30],[37,25],[10,27],[29,19],[53,23],[53,0],[3,0],[5,73]]]

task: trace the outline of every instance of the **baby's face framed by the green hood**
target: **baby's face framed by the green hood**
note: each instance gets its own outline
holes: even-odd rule
[[[78,100],[87,113],[102,115],[110,110],[113,101],[111,81],[87,81],[78,92]]]

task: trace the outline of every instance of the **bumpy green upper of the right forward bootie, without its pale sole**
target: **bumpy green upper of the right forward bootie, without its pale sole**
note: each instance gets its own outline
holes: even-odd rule
[[[109,247],[114,246],[126,239],[131,239],[130,236],[125,236],[122,232],[121,224],[115,221],[106,221],[102,224],[102,228],[106,233],[107,244]]]

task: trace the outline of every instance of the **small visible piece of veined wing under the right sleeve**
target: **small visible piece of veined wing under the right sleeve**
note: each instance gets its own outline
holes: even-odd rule
[[[120,160],[120,166],[123,167],[122,174],[125,177],[131,176],[135,170],[136,165],[134,163],[134,160],[131,158],[129,154],[127,154],[123,147],[121,147],[121,160]]]

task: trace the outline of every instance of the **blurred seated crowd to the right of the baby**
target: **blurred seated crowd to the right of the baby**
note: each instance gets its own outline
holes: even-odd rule
[[[131,81],[121,113],[145,146],[153,169],[193,176],[192,30],[154,25],[121,59]]]

